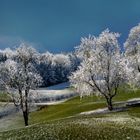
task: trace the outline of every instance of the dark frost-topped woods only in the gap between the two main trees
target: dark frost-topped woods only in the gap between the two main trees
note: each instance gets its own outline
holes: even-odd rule
[[[39,54],[39,63],[35,67],[43,78],[42,86],[54,85],[68,81],[71,72],[77,69],[79,58],[74,54]]]

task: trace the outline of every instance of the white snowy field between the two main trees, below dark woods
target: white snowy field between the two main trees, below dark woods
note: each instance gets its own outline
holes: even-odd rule
[[[65,101],[74,96],[76,93],[69,88],[68,82],[33,91],[33,98],[38,104],[55,104],[55,102]]]

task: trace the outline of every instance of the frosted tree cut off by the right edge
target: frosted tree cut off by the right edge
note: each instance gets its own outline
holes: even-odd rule
[[[140,86],[140,24],[130,30],[124,43],[130,84]]]

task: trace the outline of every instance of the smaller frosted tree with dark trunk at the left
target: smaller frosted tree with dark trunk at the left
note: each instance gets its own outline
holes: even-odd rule
[[[25,126],[28,125],[31,89],[34,90],[42,82],[42,78],[32,64],[35,59],[35,49],[27,44],[21,44],[16,49],[16,60],[7,60],[0,69],[2,86],[12,97],[14,104],[20,106]]]

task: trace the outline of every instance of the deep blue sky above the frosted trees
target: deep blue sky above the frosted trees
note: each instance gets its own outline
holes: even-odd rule
[[[71,51],[106,28],[122,44],[139,22],[140,0],[0,0],[0,48],[24,40],[39,51]]]

